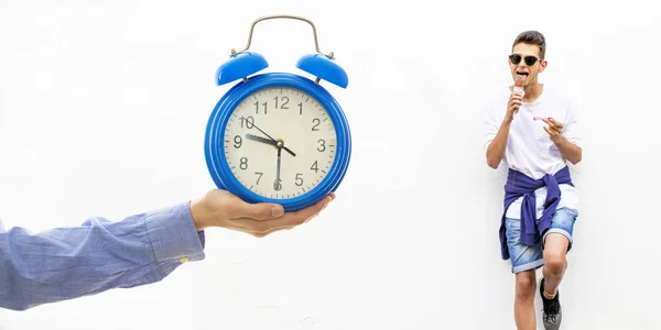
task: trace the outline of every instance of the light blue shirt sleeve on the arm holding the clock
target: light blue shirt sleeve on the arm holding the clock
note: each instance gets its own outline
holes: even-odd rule
[[[0,307],[39,305],[159,282],[204,260],[189,201],[112,222],[96,217],[41,233],[0,222]]]

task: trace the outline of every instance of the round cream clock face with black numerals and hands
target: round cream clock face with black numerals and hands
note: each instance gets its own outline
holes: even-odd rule
[[[335,161],[337,134],[326,109],[291,87],[269,87],[234,109],[224,134],[225,158],[254,194],[286,199],[314,189]]]

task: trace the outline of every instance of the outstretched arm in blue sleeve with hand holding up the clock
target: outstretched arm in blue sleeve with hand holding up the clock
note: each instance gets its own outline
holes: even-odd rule
[[[206,228],[264,237],[307,222],[334,197],[284,213],[278,205],[247,204],[225,190],[212,190],[194,201],[119,222],[97,217],[37,234],[0,228],[0,308],[25,310],[155,283],[183,263],[205,257]]]

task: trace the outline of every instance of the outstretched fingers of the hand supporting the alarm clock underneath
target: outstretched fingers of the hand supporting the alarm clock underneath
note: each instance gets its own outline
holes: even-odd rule
[[[335,199],[335,195],[329,194],[308,208],[295,212],[284,213],[282,217],[277,219],[271,218],[267,220],[257,220],[254,218],[241,218],[236,219],[234,222],[237,227],[241,228],[242,231],[261,238],[274,231],[291,229],[310,221],[312,218],[316,217],[333,199]]]

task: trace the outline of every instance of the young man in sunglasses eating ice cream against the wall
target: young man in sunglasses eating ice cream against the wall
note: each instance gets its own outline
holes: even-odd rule
[[[509,167],[499,234],[502,258],[511,260],[516,274],[514,320],[520,330],[535,329],[535,270],[542,265],[542,321],[548,330],[560,328],[559,286],[578,215],[567,167],[582,157],[576,108],[538,81],[548,65],[545,51],[540,32],[517,36],[508,59],[516,82],[485,113],[487,164],[498,168],[505,162]]]

